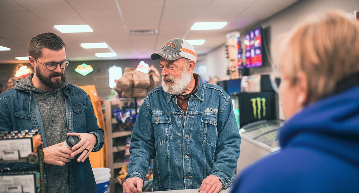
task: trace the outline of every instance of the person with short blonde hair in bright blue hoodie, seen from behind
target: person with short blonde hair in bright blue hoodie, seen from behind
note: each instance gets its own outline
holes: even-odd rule
[[[282,150],[232,193],[359,192],[359,23],[337,11],[310,19],[279,46]]]

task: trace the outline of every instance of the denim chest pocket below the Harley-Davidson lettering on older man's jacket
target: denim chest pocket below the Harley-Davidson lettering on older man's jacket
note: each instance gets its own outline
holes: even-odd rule
[[[216,114],[202,113],[201,140],[209,145],[215,145],[218,138],[218,116]]]

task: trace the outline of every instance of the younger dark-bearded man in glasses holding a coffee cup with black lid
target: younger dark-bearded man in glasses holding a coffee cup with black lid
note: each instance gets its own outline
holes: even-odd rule
[[[35,73],[0,95],[0,131],[38,130],[43,142],[46,192],[96,192],[88,156],[103,146],[104,131],[84,90],[69,84],[66,45],[54,33],[41,33],[28,44]],[[62,147],[69,135],[81,138],[72,149]],[[28,163],[8,165],[31,168]]]

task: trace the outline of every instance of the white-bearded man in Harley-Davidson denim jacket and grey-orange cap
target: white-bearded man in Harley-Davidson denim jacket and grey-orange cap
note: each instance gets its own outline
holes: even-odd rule
[[[137,116],[123,192],[142,191],[150,159],[154,191],[228,188],[241,143],[232,100],[193,73],[197,55],[184,39],[171,39],[151,59],[160,59],[162,86],[150,91]]]

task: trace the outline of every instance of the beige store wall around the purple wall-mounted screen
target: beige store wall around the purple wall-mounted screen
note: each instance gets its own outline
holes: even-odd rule
[[[354,10],[359,10],[359,1],[300,0],[270,18],[262,22],[258,21],[258,23],[244,29],[238,29],[238,31],[241,32],[241,34],[244,34],[251,29],[261,25],[266,37],[268,51],[271,53],[271,43],[275,42],[275,38],[278,36],[278,34],[287,32],[288,30],[292,29],[295,24],[310,14],[322,13],[332,9],[341,9],[346,13],[350,13]],[[224,42],[221,47],[207,54],[206,63],[208,65],[208,76],[222,75],[223,77],[227,77],[225,76],[225,73],[228,66],[228,61],[225,59],[225,53],[223,50]],[[255,67],[250,69],[250,74],[267,74],[272,72],[270,62],[267,60],[266,56],[264,57],[264,65],[262,67]]]

